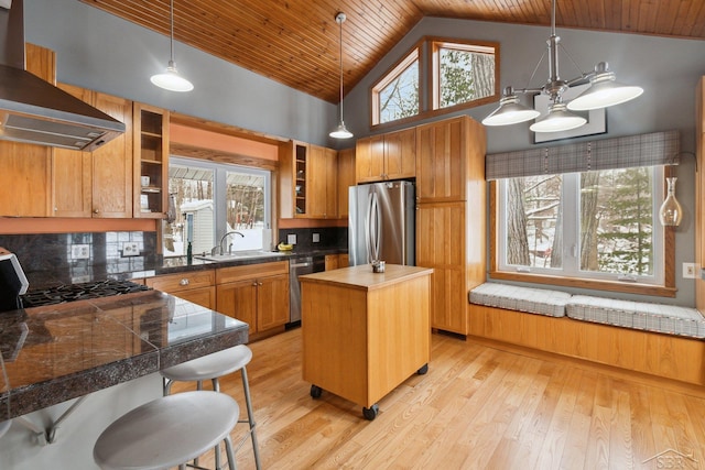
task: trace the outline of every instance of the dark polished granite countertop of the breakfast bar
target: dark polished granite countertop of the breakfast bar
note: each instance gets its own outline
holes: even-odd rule
[[[159,291],[0,314],[0,422],[248,340],[249,326]]]

